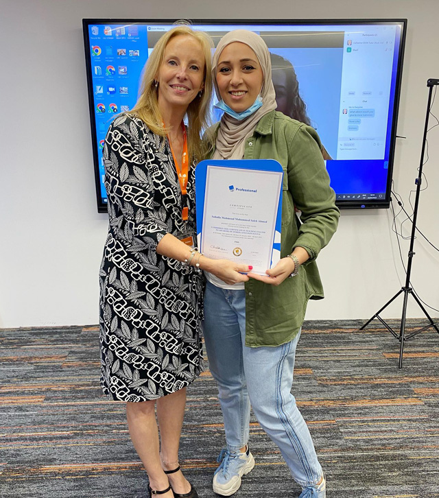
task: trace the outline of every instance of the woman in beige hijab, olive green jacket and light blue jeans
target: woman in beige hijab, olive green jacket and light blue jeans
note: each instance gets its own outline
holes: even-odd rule
[[[260,36],[242,29],[226,34],[215,51],[213,79],[224,115],[208,133],[211,158],[270,158],[284,171],[280,261],[265,276],[250,272],[252,278],[233,285],[206,272],[204,337],[227,443],[213,490],[233,495],[254,466],[252,405],[302,487],[300,498],[324,498],[322,467],[291,387],[307,301],[323,298],[315,260],[337,228],[335,194],[316,131],[275,110],[270,53]]]

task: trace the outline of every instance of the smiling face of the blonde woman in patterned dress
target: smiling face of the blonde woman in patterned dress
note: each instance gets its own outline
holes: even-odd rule
[[[158,107],[187,109],[203,88],[205,60],[198,40],[189,35],[171,38],[158,69]]]

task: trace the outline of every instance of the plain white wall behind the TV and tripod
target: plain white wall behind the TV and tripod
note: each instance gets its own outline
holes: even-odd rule
[[[82,18],[407,18],[394,179],[414,187],[427,105],[439,78],[437,0],[0,0],[0,327],[97,323],[106,215],[95,186]],[[439,96],[438,96],[439,99]],[[439,102],[436,103],[439,114]],[[430,134],[418,226],[439,246],[439,141]],[[408,203],[406,202],[406,205]],[[390,210],[343,211],[320,256],[327,298],[307,318],[368,318],[404,282]],[[408,228],[408,224],[406,224]],[[407,243],[403,244],[404,260]],[[439,309],[439,254],[416,241],[412,283]],[[383,313],[397,317],[398,301]],[[432,311],[432,316],[439,313]],[[412,304],[407,316],[422,313]]]

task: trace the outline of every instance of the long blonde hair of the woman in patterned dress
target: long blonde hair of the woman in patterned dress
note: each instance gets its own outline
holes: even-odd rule
[[[137,115],[153,133],[166,137],[168,130],[163,127],[163,119],[158,108],[158,92],[155,78],[163,62],[169,40],[180,35],[192,36],[195,40],[198,40],[205,60],[202,94],[201,96],[197,95],[187,108],[189,158],[191,158],[191,161],[194,159],[200,161],[206,153],[206,145],[202,143],[201,134],[210,124],[208,110],[212,95],[211,49],[213,48],[213,41],[208,34],[202,31],[194,31],[188,25],[178,25],[161,36],[145,64],[141,94],[129,114]]]

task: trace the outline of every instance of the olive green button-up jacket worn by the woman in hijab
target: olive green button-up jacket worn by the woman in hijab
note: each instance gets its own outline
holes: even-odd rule
[[[218,127],[206,133],[213,144]],[[281,257],[296,246],[309,254],[298,275],[281,285],[246,282],[246,346],[278,346],[294,339],[308,300],[324,297],[315,260],[337,229],[340,211],[321,147],[316,130],[276,111],[263,116],[246,139],[245,159],[275,159],[283,167]],[[294,206],[302,212],[301,223]]]

